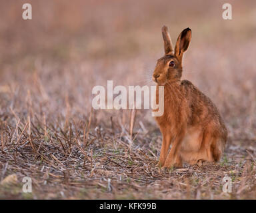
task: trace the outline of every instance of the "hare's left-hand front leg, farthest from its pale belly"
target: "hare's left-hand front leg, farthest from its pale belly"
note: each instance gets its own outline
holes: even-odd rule
[[[157,163],[157,166],[163,166],[165,164],[165,159],[168,154],[168,150],[171,144],[171,140],[173,136],[171,135],[170,132],[167,132],[166,130],[161,130],[162,136],[163,136],[163,141],[161,145],[161,152],[160,152],[160,157],[159,157],[159,162]]]

